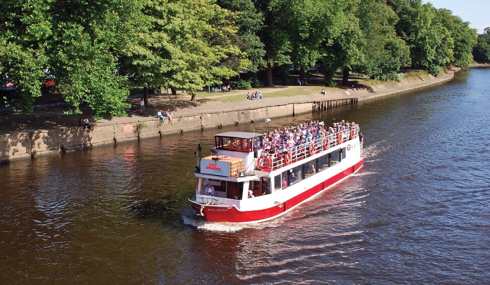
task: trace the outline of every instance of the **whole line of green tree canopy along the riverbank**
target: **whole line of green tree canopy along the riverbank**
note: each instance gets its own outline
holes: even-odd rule
[[[488,29],[421,0],[5,0],[0,74],[7,106],[30,112],[46,78],[79,113],[123,116],[129,88],[196,90],[247,70],[355,70],[392,80],[400,68],[488,61]]]

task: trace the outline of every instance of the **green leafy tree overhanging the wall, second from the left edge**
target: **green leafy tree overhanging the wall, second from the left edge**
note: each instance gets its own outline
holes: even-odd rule
[[[126,23],[136,20],[137,12],[137,3],[122,0],[52,4],[49,71],[73,112],[79,112],[83,100],[95,119],[126,115],[129,92],[126,78],[116,72],[117,54],[119,48],[134,43],[130,38],[134,31]]]

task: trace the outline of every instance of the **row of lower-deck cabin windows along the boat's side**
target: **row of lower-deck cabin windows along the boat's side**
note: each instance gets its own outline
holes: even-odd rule
[[[345,154],[346,150],[344,147],[322,155],[315,160],[305,162],[302,165],[286,170],[281,175],[274,177],[274,190],[287,188],[288,186],[298,183],[309,176],[339,163],[342,159],[345,159]]]

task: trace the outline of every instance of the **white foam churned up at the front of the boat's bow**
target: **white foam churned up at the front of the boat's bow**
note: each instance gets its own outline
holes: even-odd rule
[[[243,229],[265,229],[266,227],[276,227],[278,219],[261,223],[232,223],[232,222],[210,222],[192,213],[182,212],[184,224],[196,227],[197,229],[213,232],[237,232]]]

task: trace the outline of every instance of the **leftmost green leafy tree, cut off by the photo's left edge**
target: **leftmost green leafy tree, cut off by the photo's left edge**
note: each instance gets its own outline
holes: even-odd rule
[[[14,110],[33,110],[41,96],[41,81],[48,67],[46,49],[51,37],[50,3],[43,0],[5,0],[0,14],[0,73],[15,84],[15,95],[5,97]]]

